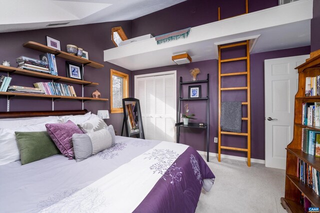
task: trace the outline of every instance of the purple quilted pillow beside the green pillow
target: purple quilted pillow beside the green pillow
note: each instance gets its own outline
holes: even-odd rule
[[[55,143],[60,152],[72,159],[74,157],[72,135],[74,133],[83,134],[83,132],[72,121],[63,124],[45,124],[46,131]]]

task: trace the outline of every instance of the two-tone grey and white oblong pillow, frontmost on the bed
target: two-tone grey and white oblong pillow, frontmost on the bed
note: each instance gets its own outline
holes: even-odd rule
[[[112,139],[107,129],[101,129],[87,134],[73,134],[72,143],[75,161],[80,162],[110,148]]]

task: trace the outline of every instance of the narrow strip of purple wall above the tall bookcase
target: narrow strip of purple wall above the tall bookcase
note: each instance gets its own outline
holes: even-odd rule
[[[313,0],[311,19],[311,52],[320,49],[320,0]]]

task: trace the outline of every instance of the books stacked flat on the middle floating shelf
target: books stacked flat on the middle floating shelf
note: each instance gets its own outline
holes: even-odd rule
[[[45,61],[20,56],[16,59],[17,68],[50,74],[48,63]]]

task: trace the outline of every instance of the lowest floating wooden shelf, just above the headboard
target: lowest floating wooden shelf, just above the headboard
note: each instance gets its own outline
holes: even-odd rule
[[[44,95],[33,93],[19,93],[19,92],[0,92],[0,95],[5,96],[21,96],[21,97],[35,97],[35,98],[53,98],[53,99],[73,99],[83,101],[108,101],[107,98],[88,98],[88,97],[72,97],[72,96],[60,96],[60,95]]]

